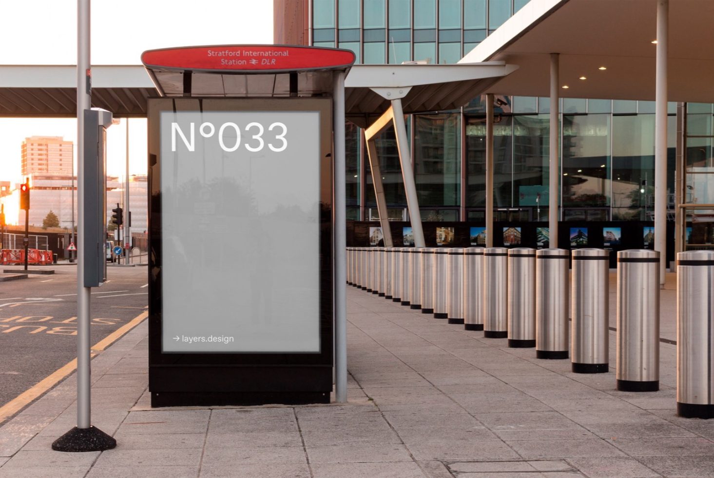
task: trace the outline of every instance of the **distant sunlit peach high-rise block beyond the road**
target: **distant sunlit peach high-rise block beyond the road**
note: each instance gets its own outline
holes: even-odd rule
[[[31,136],[22,141],[22,175],[73,173],[73,144],[61,136]]]

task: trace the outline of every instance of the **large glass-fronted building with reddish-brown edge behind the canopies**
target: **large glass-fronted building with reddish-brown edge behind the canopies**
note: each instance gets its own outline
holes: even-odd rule
[[[276,44],[351,49],[363,64],[455,63],[527,3],[276,0],[274,40]],[[623,236],[633,240],[623,237],[623,241],[638,247],[635,236],[641,242],[643,228],[653,221],[654,106],[654,101],[560,99],[558,202],[564,226],[591,226],[594,237],[597,231],[593,226],[630,224],[630,229],[623,229]],[[668,220],[673,226],[677,105],[672,102],[668,106]],[[688,124],[700,124],[700,116],[712,114],[712,105],[688,104],[683,111]],[[550,201],[549,99],[497,96],[495,113],[495,177],[493,191],[489,191],[494,198],[494,219],[514,225],[544,223]],[[408,130],[422,219],[483,224],[487,193],[485,98],[455,111],[411,115]],[[689,152],[696,153],[695,143],[706,140],[687,139]],[[404,220],[406,197],[391,131],[383,134],[378,149],[389,217]],[[347,126],[346,164],[347,219],[376,219],[365,141],[361,130],[351,124]],[[693,190],[707,190],[703,185],[692,186]],[[535,247],[535,230],[523,232],[523,245]],[[567,239],[565,235],[563,240]],[[673,242],[668,234],[670,252]]]

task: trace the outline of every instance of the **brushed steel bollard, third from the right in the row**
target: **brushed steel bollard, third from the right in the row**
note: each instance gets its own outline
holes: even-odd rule
[[[576,374],[603,374],[609,369],[609,265],[609,251],[573,251],[570,362]]]

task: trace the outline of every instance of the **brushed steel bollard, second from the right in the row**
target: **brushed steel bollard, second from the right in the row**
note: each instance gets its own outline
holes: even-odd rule
[[[622,392],[660,389],[660,253],[618,252],[616,377]]]

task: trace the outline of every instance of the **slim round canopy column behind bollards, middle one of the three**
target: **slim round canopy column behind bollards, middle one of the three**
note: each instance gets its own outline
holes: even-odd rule
[[[548,158],[548,244],[558,247],[558,201],[560,201],[560,148],[558,139],[560,111],[558,111],[558,83],[560,54],[550,54],[550,154]]]

